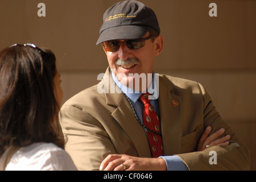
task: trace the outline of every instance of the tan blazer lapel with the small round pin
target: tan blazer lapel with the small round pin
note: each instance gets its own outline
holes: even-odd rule
[[[159,109],[163,136],[163,154],[174,155],[182,147],[181,98],[172,93],[173,86],[159,76]]]

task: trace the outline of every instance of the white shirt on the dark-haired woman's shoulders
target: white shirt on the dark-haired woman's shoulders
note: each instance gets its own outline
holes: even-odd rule
[[[21,147],[7,164],[6,171],[74,171],[69,154],[53,143]]]

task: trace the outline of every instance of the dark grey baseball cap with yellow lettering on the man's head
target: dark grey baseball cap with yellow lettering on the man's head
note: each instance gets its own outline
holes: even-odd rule
[[[139,39],[150,27],[160,34],[157,16],[153,10],[138,1],[118,2],[103,15],[103,24],[96,44],[107,40]]]

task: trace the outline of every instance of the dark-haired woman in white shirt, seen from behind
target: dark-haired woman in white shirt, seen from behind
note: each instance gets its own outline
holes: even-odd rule
[[[0,52],[3,170],[77,169],[55,127],[62,98],[55,56],[49,49],[14,44]]]

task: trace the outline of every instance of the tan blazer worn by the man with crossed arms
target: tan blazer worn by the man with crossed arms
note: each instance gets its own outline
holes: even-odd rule
[[[151,158],[145,131],[124,94],[119,88],[115,93],[98,92],[98,86],[110,90],[111,84],[114,81],[108,68],[98,85],[76,94],[61,108],[65,148],[79,170],[98,170],[108,154]],[[249,151],[222,121],[198,82],[159,75],[159,110],[164,155],[178,155],[190,170],[250,169]],[[213,127],[213,132],[225,128],[231,144],[196,152],[207,126]],[[210,151],[216,151],[217,164],[209,163]]]

